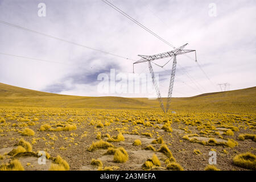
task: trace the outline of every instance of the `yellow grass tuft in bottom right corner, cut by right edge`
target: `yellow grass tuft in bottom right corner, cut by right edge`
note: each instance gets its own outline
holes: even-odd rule
[[[256,170],[256,155],[250,152],[239,154],[233,158],[233,163],[242,168]]]

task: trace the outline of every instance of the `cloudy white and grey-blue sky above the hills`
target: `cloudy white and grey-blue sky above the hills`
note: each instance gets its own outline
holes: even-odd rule
[[[175,47],[188,43],[187,49],[196,49],[198,63],[205,73],[196,64],[195,53],[177,56],[174,97],[217,92],[217,84],[225,82],[230,84],[230,90],[255,86],[255,0],[109,1]],[[46,16],[38,15],[39,3],[46,5]],[[110,79],[112,69],[118,87],[120,74],[122,84],[126,76],[132,75],[132,60],[139,60],[138,55],[173,49],[101,0],[0,0],[0,21],[0,82],[44,92],[148,97],[148,91],[102,93],[102,81],[97,78],[105,74],[104,79]],[[167,61],[155,63],[163,65]],[[159,74],[162,96],[167,96],[171,62],[164,68],[152,65]],[[147,63],[135,65],[135,73],[148,72]]]

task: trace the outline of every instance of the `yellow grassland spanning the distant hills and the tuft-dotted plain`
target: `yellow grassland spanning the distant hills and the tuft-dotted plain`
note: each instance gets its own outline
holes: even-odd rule
[[[176,113],[167,114],[159,109],[158,100],[65,96],[1,83],[0,101],[0,139],[10,140],[10,144],[0,143],[1,148],[12,147],[14,140],[18,142],[13,155],[3,154],[0,160],[9,156],[18,158],[20,153],[30,154],[32,147],[35,151],[46,148],[51,156],[60,152],[67,159],[66,162],[47,153],[47,159],[52,160],[50,170],[77,169],[72,165],[76,159],[68,158],[66,152],[81,146],[92,157],[83,163],[92,162],[102,170],[117,169],[114,166],[123,169],[132,163],[133,149],[164,156],[158,159],[154,155],[144,160],[142,169],[187,170],[181,152],[200,158],[208,155],[205,152],[210,147],[216,147],[221,148],[222,157],[229,161],[236,152],[238,156],[232,164],[236,169],[255,167],[256,87],[174,98],[171,108]],[[241,148],[246,142],[251,143],[253,164],[247,161],[249,155],[240,155],[249,151]],[[187,146],[193,147],[187,151]],[[104,160],[101,164],[97,160],[100,155],[94,156],[100,152],[114,155],[114,166],[105,166]],[[17,167],[5,164],[2,169],[23,169],[18,164],[15,163]],[[26,164],[25,169],[31,166]]]

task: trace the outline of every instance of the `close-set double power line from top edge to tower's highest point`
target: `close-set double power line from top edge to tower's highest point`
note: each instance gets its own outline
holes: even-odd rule
[[[149,32],[150,34],[154,35],[156,38],[162,40],[162,42],[166,43],[168,46],[171,46],[172,48],[175,48],[175,46],[173,46],[172,44],[168,43],[166,40],[164,40],[163,38],[161,38],[159,35],[155,34],[155,32],[151,31],[150,29],[148,29],[147,27],[145,27],[143,24],[139,23],[137,20],[135,20],[133,17],[131,17],[130,15],[126,14],[124,11],[122,11],[121,9],[119,9],[117,6],[113,5],[111,2],[109,2],[108,0],[101,0],[102,2],[106,3],[106,5],[109,5],[110,7],[112,7],[115,11],[118,11],[119,13],[121,13],[123,16],[125,16],[126,18],[130,19],[132,22],[138,24],[138,26],[142,27],[144,30],[146,30],[147,32]]]

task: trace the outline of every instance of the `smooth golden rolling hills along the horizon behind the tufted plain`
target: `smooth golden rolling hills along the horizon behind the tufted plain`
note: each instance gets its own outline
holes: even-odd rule
[[[163,98],[164,102],[166,98]],[[81,97],[39,92],[0,83],[1,107],[63,107],[87,109],[159,109],[158,100],[124,97]],[[256,113],[256,86],[194,97],[172,98],[172,110]]]

